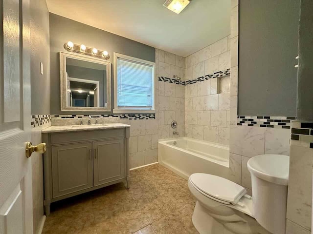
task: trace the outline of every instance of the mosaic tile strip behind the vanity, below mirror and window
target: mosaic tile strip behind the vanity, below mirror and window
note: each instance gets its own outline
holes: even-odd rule
[[[156,119],[156,114],[105,114],[90,115],[91,118],[121,118],[121,119]],[[51,118],[88,118],[89,115],[51,115]]]

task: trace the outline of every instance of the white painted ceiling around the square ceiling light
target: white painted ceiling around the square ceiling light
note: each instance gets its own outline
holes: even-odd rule
[[[176,14],[164,0],[46,0],[50,12],[187,57],[230,34],[230,0],[192,0]]]

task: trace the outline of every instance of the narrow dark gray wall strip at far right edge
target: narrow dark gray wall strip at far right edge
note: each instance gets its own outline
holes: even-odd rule
[[[297,117],[313,122],[313,1],[301,0]]]

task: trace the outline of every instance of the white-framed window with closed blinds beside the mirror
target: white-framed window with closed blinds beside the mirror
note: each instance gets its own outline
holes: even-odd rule
[[[113,113],[155,112],[155,63],[114,53]]]

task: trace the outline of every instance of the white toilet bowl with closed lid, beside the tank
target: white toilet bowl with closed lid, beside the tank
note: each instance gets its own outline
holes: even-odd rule
[[[197,199],[192,222],[200,234],[270,234],[254,219],[244,187],[203,173],[192,174],[188,187]]]

